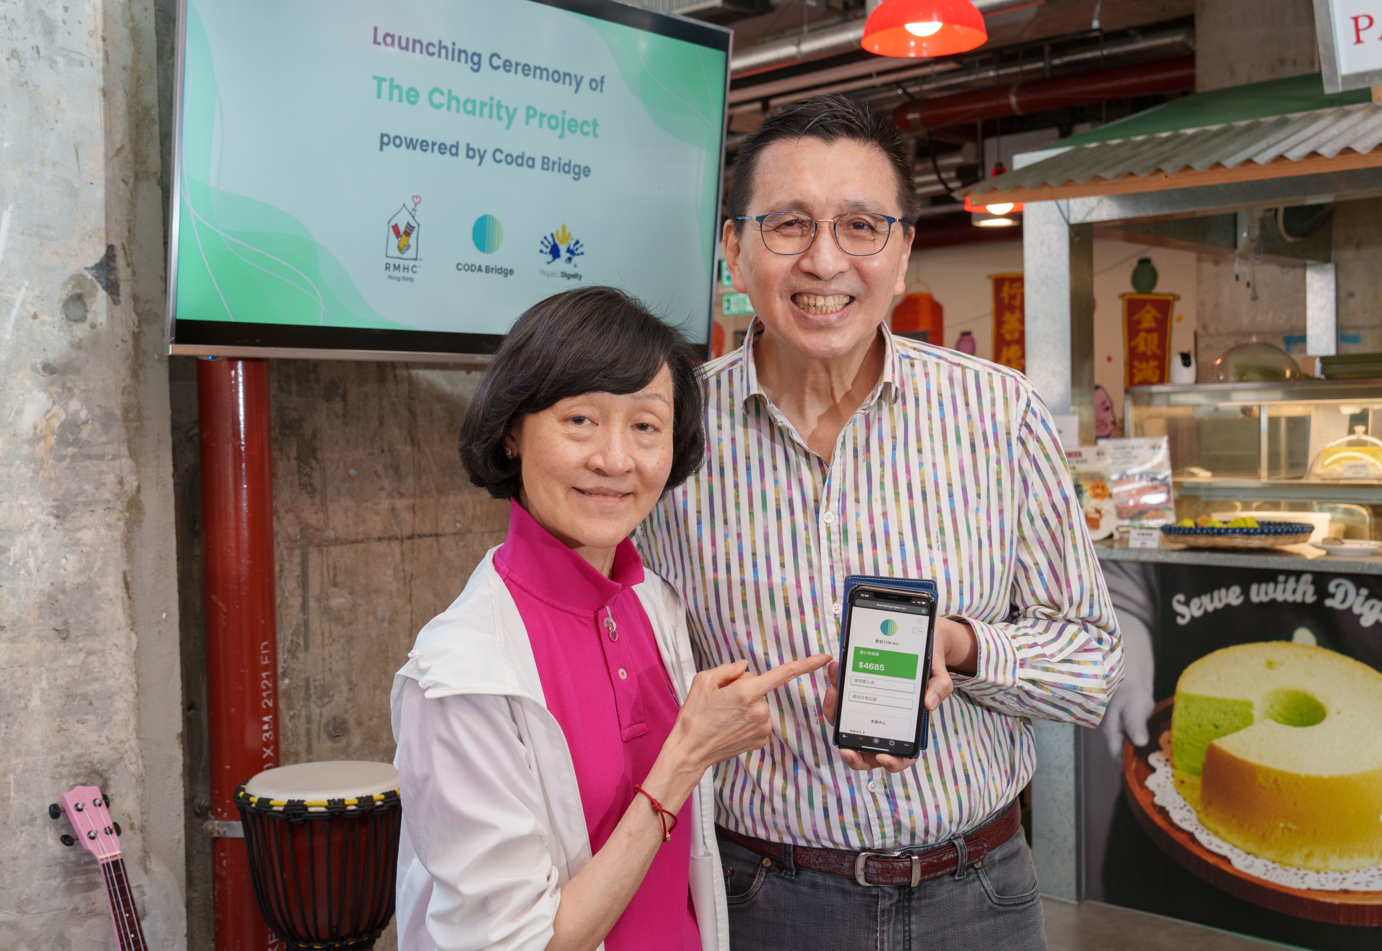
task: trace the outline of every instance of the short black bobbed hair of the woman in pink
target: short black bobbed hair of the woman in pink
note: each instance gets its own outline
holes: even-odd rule
[[[522,312],[480,382],[460,427],[460,460],[470,481],[496,499],[522,485],[504,437],[525,413],[583,393],[637,393],[672,372],[672,473],[676,488],[705,459],[701,382],[680,332],[615,288],[562,290]]]

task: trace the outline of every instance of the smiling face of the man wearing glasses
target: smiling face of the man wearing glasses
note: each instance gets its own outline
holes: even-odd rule
[[[799,211],[837,218],[855,211],[900,217],[897,173],[876,147],[854,140],[781,140],[759,155],[748,214]],[[896,294],[907,289],[911,234],[893,225],[878,254],[846,254],[829,224],[802,254],[774,254],[756,221],[735,232],[726,223],[724,249],[735,290],[749,296],[767,330],[803,357],[854,352],[878,332]]]

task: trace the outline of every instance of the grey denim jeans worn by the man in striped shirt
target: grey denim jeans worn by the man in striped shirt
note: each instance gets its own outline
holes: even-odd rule
[[[914,887],[864,887],[720,838],[731,951],[1046,951],[1021,829],[981,863]]]

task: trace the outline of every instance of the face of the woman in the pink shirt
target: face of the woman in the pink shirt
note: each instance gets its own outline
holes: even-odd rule
[[[652,511],[672,471],[672,372],[638,393],[585,393],[521,416],[504,440],[518,502],[575,549],[614,549]]]

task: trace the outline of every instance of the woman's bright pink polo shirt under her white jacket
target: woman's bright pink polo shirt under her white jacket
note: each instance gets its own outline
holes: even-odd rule
[[[662,752],[680,708],[633,592],[643,581],[643,561],[625,539],[605,578],[514,502],[495,569],[528,629],[547,709],[576,767],[590,847],[600,851],[633,802],[633,787]],[[651,809],[644,796],[638,800]],[[684,807],[679,813],[683,821],[672,842],[658,849],[605,937],[608,951],[699,951],[688,882],[691,821]]]

